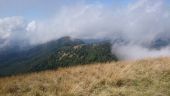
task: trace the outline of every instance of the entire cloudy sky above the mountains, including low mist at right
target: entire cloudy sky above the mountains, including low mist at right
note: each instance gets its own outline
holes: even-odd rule
[[[170,56],[150,48],[170,40],[170,0],[0,0],[0,13],[0,48],[71,36],[110,39],[120,59]]]

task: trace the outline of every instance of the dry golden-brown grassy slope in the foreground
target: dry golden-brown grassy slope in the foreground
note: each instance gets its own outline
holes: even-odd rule
[[[170,58],[0,78],[1,96],[170,96]]]

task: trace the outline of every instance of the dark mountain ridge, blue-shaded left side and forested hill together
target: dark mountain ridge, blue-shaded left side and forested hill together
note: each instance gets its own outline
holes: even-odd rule
[[[117,60],[110,48],[111,44],[105,41],[85,43],[80,39],[63,37],[27,50],[7,50],[0,54],[0,75]]]

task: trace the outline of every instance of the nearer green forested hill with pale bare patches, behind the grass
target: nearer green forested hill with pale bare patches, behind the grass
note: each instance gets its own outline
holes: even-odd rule
[[[117,59],[111,53],[111,44],[109,42],[64,46],[50,55],[46,63],[36,65],[34,70],[69,67],[94,62],[110,62],[113,60]]]

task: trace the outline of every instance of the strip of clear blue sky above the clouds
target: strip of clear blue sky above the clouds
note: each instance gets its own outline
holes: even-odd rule
[[[75,4],[98,4],[124,6],[132,0],[0,0],[0,17],[23,16],[28,20],[45,19],[64,6]]]

